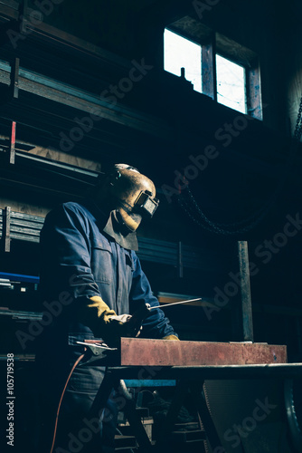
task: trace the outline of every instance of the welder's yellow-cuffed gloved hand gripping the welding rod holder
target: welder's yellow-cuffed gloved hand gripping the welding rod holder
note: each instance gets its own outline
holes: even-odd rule
[[[99,295],[90,297],[88,304],[81,305],[78,315],[80,322],[88,325],[94,335],[109,346],[117,347],[121,337],[131,336],[127,323],[131,315],[117,315]]]

